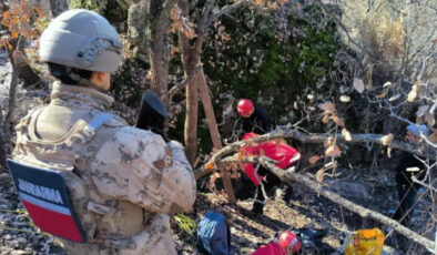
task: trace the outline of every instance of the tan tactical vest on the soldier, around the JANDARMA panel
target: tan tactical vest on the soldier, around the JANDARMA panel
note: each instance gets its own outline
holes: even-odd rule
[[[144,214],[143,208],[128,201],[100,194],[93,184],[90,170],[99,149],[125,124],[109,113],[100,112],[90,121],[77,121],[70,131],[57,141],[43,141],[35,132],[42,110],[43,108],[31,111],[17,125],[13,161],[59,173],[63,177],[70,204],[78,216],[87,244],[109,249],[135,249],[141,241],[139,236],[146,235],[143,230],[151,216],[145,218],[145,215],[150,214]],[[20,187],[17,188],[20,192]],[[61,242],[65,246],[74,246],[71,239]],[[80,238],[75,241],[81,242]]]

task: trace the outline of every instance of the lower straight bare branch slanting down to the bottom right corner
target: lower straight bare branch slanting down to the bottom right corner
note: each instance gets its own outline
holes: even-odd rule
[[[293,185],[295,183],[299,183],[312,190],[313,192],[324,196],[325,198],[332,201],[333,203],[336,203],[338,205],[342,205],[343,207],[347,208],[350,212],[354,212],[358,214],[362,217],[369,217],[373,218],[379,223],[383,223],[387,226],[390,226],[394,231],[398,232],[399,234],[404,235],[405,237],[411,239],[413,242],[423,245],[426,247],[430,253],[435,253],[436,251],[436,244],[417,234],[416,232],[409,230],[408,227],[403,226],[400,223],[398,223],[395,220],[392,220],[378,212],[375,212],[373,210],[366,208],[364,206],[357,205],[331,191],[328,191],[323,183],[318,183],[316,181],[311,180],[309,177],[306,177],[302,174],[297,174],[294,172],[294,167],[292,170],[282,170],[271,163],[268,159],[265,157],[252,157],[252,159],[241,159],[243,162],[250,162],[250,163],[260,163],[261,165],[265,166],[273,174],[275,174],[278,178],[281,178],[282,182],[286,183],[287,185]],[[222,162],[238,162],[240,159],[237,156],[230,156],[224,159]]]

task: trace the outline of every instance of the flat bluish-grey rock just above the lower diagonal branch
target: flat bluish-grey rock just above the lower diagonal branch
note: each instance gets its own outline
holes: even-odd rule
[[[357,201],[367,201],[370,197],[370,187],[356,182],[334,182],[329,190],[338,193],[341,196]]]

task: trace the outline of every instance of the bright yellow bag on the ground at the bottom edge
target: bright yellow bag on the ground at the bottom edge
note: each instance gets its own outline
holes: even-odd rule
[[[359,230],[347,238],[345,255],[380,255],[383,247],[383,232],[378,228]]]

